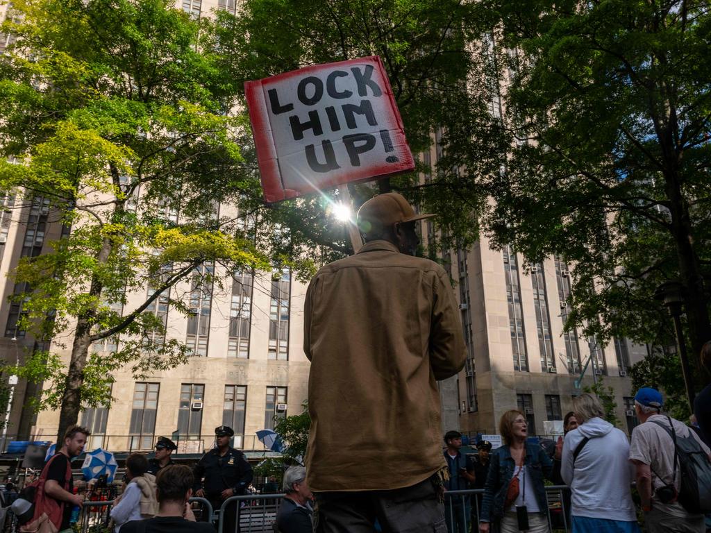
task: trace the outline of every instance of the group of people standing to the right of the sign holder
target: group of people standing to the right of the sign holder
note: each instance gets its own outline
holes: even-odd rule
[[[656,389],[643,387],[636,393],[641,424],[632,431],[631,441],[605,420],[593,394],[579,395],[573,405],[565,416],[565,437],[552,457],[528,441],[525,416],[515,409],[501,416],[503,446],[491,453],[490,444],[482,441],[476,458],[463,456],[461,435],[449,431],[444,436],[449,470],[445,489],[483,488],[478,515],[471,511],[471,496],[449,497],[449,533],[469,532],[470,520],[478,522],[481,533],[550,532],[545,480],[570,488],[570,493],[563,492],[567,497],[562,503],[573,533],[639,533],[633,482],[648,533],[707,531],[704,514],[683,499],[683,452],[677,441],[691,439],[690,446],[707,461],[711,452],[702,434],[663,414],[663,397]]]

